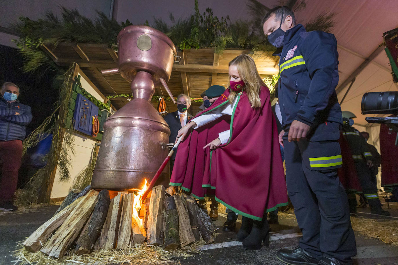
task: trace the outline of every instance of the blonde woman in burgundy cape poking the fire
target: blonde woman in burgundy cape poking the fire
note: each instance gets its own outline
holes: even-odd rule
[[[217,201],[242,215],[238,240],[257,250],[268,244],[266,213],[287,205],[286,184],[269,89],[254,60],[229,63],[230,86],[211,107],[178,131],[170,185],[197,199]]]

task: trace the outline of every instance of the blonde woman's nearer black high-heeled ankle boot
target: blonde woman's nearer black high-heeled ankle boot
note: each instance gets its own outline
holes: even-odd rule
[[[264,246],[269,246],[269,224],[267,213],[264,214],[262,221],[253,220],[253,227],[250,234],[243,240],[242,244],[246,250],[259,250],[261,242]]]

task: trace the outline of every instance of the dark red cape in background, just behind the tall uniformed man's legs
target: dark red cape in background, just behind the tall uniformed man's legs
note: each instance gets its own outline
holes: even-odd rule
[[[354,159],[352,158],[351,148],[347,139],[341,132],[339,143],[341,158],[343,159],[343,166],[338,169],[339,180],[341,184],[343,184],[345,190],[362,191]]]

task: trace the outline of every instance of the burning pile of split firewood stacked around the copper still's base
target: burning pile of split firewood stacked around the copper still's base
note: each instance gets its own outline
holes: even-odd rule
[[[99,249],[123,250],[145,242],[165,250],[187,246],[200,238],[207,244],[214,242],[217,228],[195,199],[185,193],[173,194],[172,188],[166,191],[159,185],[141,203],[142,193],[113,194],[88,186],[80,193],[69,193],[55,215],[23,246],[60,258]]]

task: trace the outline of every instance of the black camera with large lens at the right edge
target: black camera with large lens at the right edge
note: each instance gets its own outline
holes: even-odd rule
[[[398,92],[368,92],[362,97],[362,114],[398,115]],[[398,117],[366,117],[369,123],[384,123],[398,132]]]

